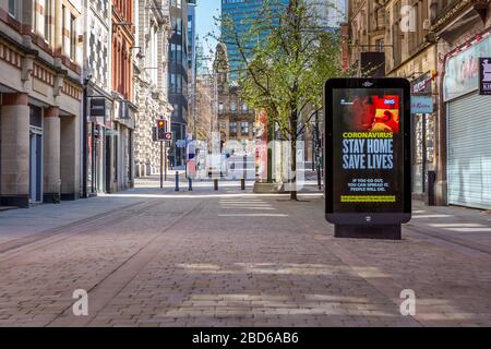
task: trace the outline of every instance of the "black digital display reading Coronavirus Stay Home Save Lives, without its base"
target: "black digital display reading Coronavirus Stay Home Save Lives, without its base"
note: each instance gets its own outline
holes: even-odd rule
[[[325,86],[326,219],[410,219],[410,86],[403,79],[335,79]]]

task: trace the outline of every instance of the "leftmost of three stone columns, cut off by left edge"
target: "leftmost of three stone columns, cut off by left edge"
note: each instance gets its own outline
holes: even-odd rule
[[[1,204],[28,207],[29,106],[27,94],[3,94],[0,116]]]

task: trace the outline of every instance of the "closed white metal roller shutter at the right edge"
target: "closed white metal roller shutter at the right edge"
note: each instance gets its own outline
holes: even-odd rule
[[[491,209],[491,96],[448,103],[448,203]]]

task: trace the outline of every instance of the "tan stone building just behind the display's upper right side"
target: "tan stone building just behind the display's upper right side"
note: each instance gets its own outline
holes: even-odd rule
[[[412,1],[407,10],[404,5],[400,1],[385,2],[385,72],[387,76],[409,80],[415,98],[433,106],[432,110],[411,116],[412,192],[424,197],[426,173],[435,169],[436,46],[427,39],[431,24],[429,1]]]

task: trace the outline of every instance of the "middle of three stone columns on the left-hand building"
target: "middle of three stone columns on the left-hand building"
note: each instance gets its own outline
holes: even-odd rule
[[[60,200],[60,109],[45,109],[43,122],[43,202]]]

